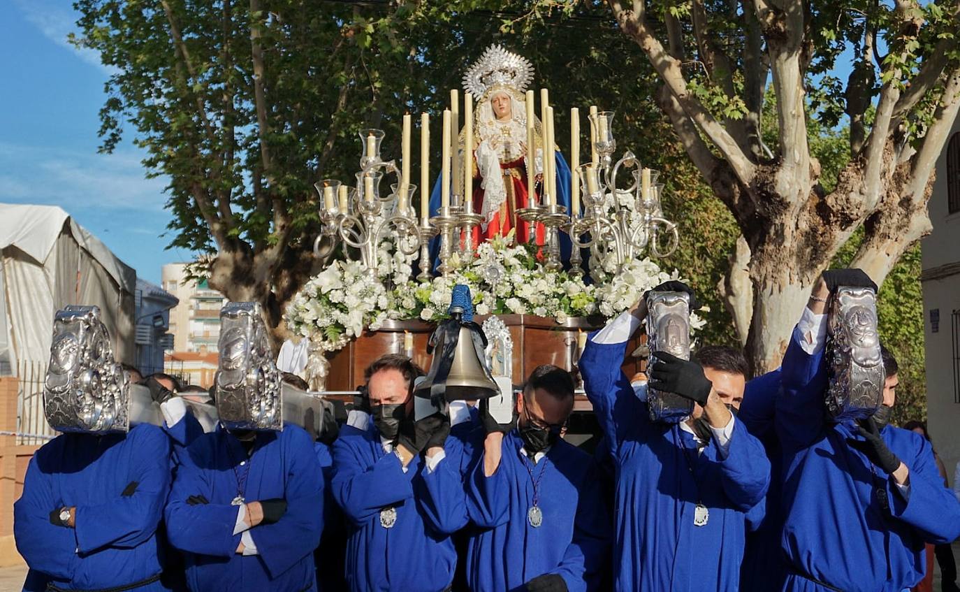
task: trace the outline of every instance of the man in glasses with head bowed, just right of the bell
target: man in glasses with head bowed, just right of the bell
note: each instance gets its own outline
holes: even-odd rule
[[[573,380],[544,364],[498,424],[480,403],[483,429],[466,487],[475,529],[467,553],[470,589],[584,592],[609,560],[610,516],[591,456],[560,437],[573,410]]]

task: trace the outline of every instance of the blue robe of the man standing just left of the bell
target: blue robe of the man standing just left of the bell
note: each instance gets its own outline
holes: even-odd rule
[[[384,452],[375,427],[340,431],[330,486],[347,516],[345,574],[353,592],[439,592],[453,580],[450,534],[467,524],[467,507],[456,438],[446,438],[444,452],[448,457],[435,471],[427,473],[416,456],[404,473],[399,458]],[[396,508],[390,529],[380,524],[387,506]]]

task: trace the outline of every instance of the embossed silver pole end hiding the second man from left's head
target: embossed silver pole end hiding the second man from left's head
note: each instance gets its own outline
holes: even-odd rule
[[[231,302],[220,309],[214,399],[228,430],[283,430],[280,371],[260,311],[255,302]]]

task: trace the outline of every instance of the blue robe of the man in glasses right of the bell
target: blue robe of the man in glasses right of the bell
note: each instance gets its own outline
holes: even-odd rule
[[[596,590],[609,559],[610,516],[592,457],[559,440],[535,466],[520,453],[523,441],[515,430],[504,437],[500,466],[488,478],[485,436],[482,428],[471,433],[478,454],[465,482],[476,527],[468,543],[470,589],[521,592],[529,580],[558,574],[569,592]],[[534,480],[540,482],[539,528],[527,520]]]

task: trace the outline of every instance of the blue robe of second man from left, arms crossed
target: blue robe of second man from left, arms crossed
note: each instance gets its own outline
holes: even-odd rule
[[[166,520],[171,544],[185,555],[190,589],[316,589],[313,550],[324,527],[324,478],[307,432],[291,424],[283,432],[258,432],[248,458],[239,440],[218,430],[205,433],[188,452],[190,462],[180,466]],[[233,534],[238,512],[230,505],[237,495],[234,468],[242,471],[238,463],[244,460],[249,460],[243,490],[248,502],[287,502],[276,524],[249,530],[258,555],[237,554],[242,534]],[[203,495],[209,504],[187,504],[193,495]]]

